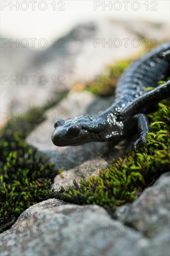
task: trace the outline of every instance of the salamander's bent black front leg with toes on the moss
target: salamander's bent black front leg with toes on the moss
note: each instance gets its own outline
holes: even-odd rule
[[[137,139],[132,146],[132,149],[137,152],[137,144],[139,142],[146,143],[146,135],[150,131],[149,122],[147,116],[144,114],[137,114],[132,119],[137,122],[137,131],[140,136],[140,138]]]

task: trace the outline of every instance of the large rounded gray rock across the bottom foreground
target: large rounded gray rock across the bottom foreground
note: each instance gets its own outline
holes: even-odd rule
[[[62,204],[52,199],[26,209],[1,234],[1,256],[169,255],[168,230],[148,238],[97,205]]]

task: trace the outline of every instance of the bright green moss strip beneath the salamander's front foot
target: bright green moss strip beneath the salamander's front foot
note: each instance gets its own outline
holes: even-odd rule
[[[139,144],[138,152],[128,152],[99,177],[81,179],[80,186],[61,188],[58,197],[77,204],[98,204],[114,212],[116,206],[133,202],[159,175],[170,170],[170,98],[158,103],[158,110],[149,114],[152,132],[147,143]]]

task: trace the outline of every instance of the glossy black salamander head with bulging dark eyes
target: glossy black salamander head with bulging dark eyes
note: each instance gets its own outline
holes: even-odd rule
[[[98,134],[105,128],[102,118],[98,121],[89,115],[73,117],[67,121],[57,120],[54,124],[52,142],[56,146],[77,146],[91,141],[98,141],[94,132]]]

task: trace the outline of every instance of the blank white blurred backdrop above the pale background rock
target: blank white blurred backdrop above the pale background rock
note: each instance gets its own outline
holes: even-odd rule
[[[150,20],[169,24],[170,18],[170,2],[168,0],[104,1],[105,5],[102,4],[102,1],[92,0],[38,0],[34,1],[34,5],[31,1],[25,1],[27,5],[23,3],[20,6],[19,4],[18,10],[15,7],[16,2],[1,1],[1,10],[3,8],[1,11],[1,34],[20,39],[45,37],[47,40],[51,40],[53,37],[64,36],[79,23],[94,20]],[[40,5],[39,2],[41,2]],[[42,49],[37,44],[35,47],[39,50]]]

